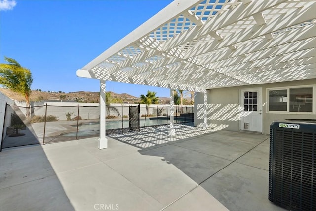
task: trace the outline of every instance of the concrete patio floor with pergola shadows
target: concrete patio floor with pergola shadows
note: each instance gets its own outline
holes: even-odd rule
[[[268,200],[269,136],[176,125],[3,149],[10,210],[283,210]]]

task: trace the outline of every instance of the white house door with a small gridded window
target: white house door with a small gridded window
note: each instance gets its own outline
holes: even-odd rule
[[[240,89],[240,130],[262,132],[262,88]]]

